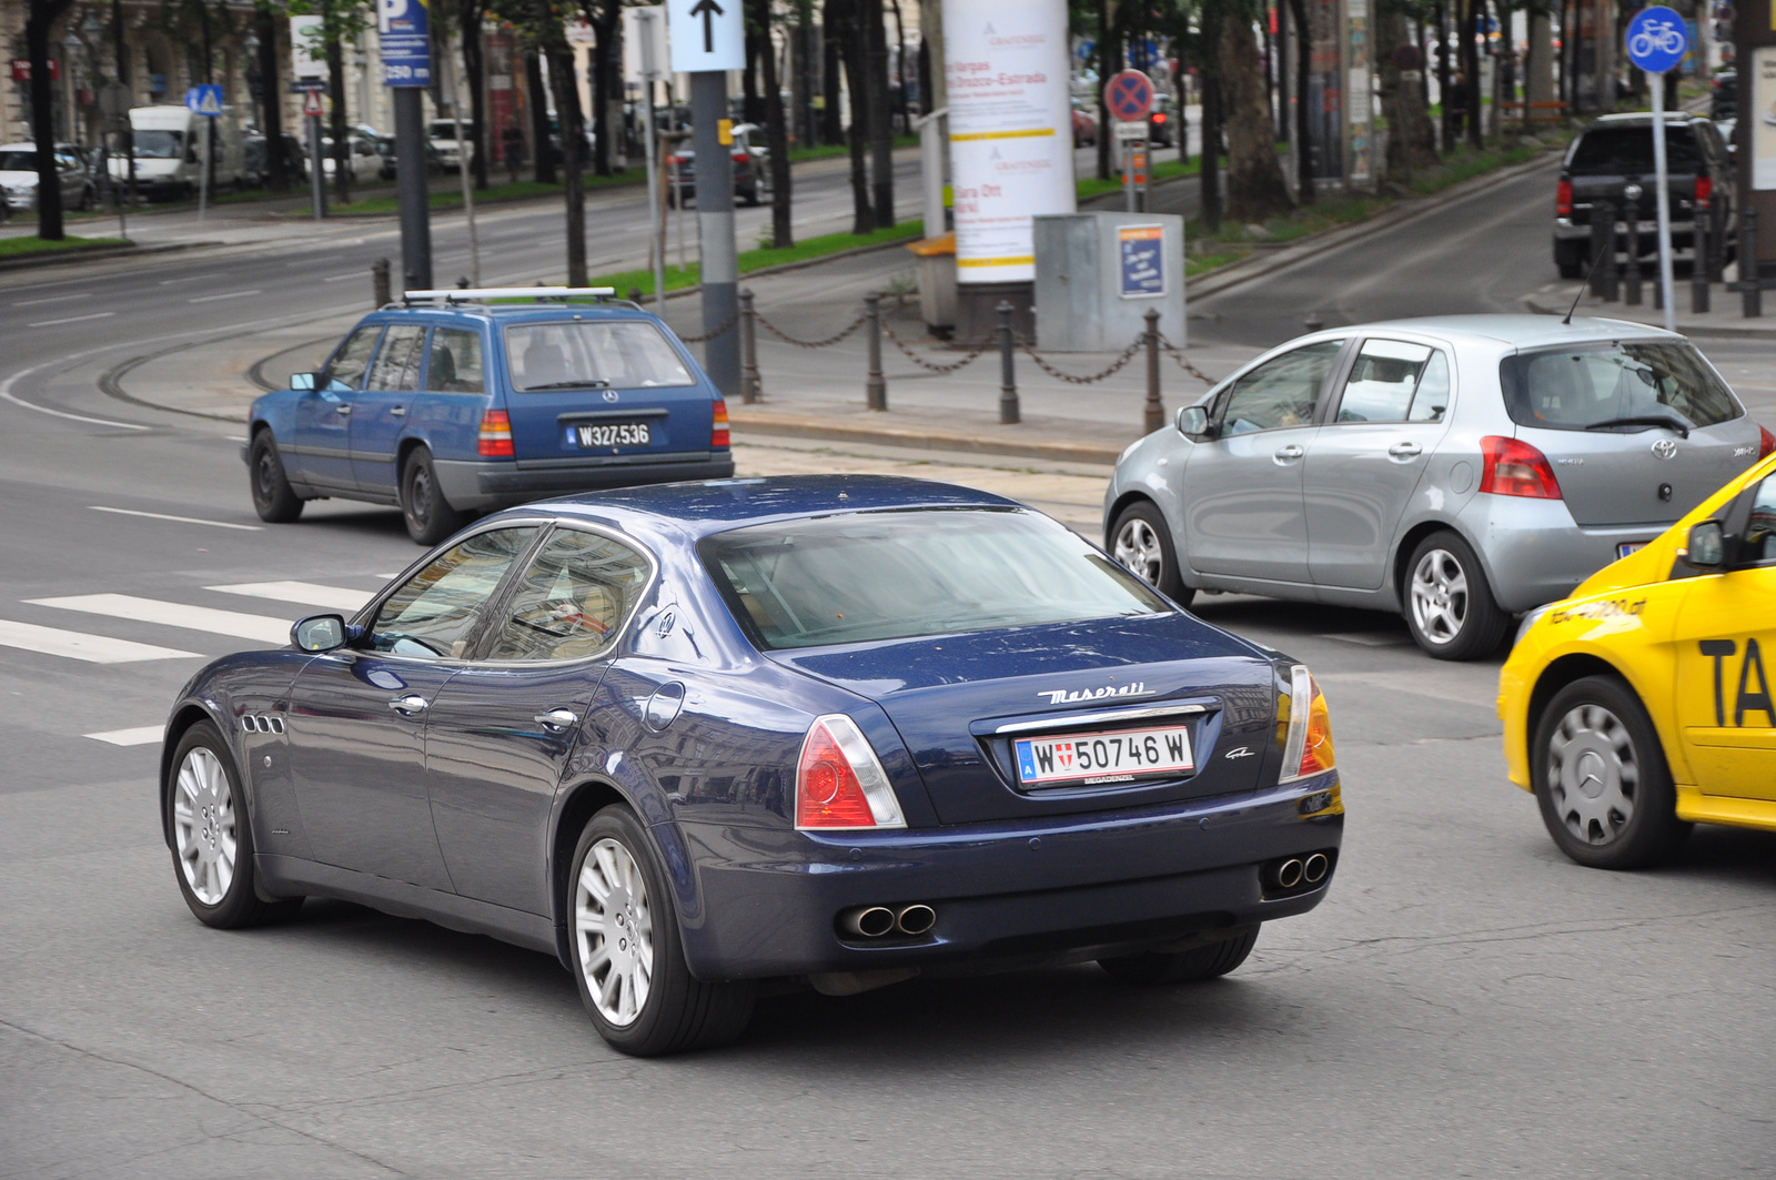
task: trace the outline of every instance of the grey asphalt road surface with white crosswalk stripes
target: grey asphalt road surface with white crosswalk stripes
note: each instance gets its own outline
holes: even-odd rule
[[[1458,204],[1206,300],[1204,336],[1256,348],[1305,309],[1479,311],[1547,281],[1545,187],[1483,204],[1487,235],[1462,236],[1483,213]],[[158,746],[114,743],[160,725],[202,658],[259,642],[240,633],[416,549],[369,506],[261,526],[233,427],[96,380],[142,343],[332,311],[353,252],[5,283],[0,1176],[1771,1175],[1776,837],[1700,830],[1657,873],[1568,864],[1504,782],[1497,661],[1433,663],[1362,611],[1199,601],[1316,670],[1350,809],[1327,903],[1213,985],[1074,967],[792,995],[730,1048],[638,1063],[538,954],[337,903],[201,928],[158,835]],[[1769,380],[1769,347],[1707,348]],[[1099,487],[1023,460],[739,457],[918,469],[1076,524]]]

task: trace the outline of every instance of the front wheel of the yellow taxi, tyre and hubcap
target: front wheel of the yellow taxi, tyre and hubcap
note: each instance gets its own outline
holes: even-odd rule
[[[1614,677],[1554,695],[1536,722],[1531,777],[1549,835],[1582,865],[1645,869],[1689,835],[1653,723]]]

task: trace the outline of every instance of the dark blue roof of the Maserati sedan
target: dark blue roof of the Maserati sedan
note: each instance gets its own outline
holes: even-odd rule
[[[613,524],[639,537],[662,531],[693,538],[746,524],[796,521],[840,512],[909,508],[1023,508],[1014,499],[936,480],[890,474],[787,474],[581,492],[501,515]]]

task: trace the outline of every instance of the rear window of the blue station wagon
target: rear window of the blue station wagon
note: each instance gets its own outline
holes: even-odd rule
[[[511,387],[659,389],[694,386],[691,370],[645,320],[513,323],[506,329]]]

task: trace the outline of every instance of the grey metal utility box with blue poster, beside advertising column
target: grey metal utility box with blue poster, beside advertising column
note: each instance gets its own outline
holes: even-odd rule
[[[1122,352],[1144,331],[1185,345],[1185,219],[1176,213],[1035,217],[1035,343]]]

